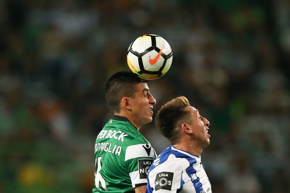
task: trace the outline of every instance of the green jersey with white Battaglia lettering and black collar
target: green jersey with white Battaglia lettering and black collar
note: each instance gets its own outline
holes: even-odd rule
[[[95,143],[93,193],[135,192],[147,184],[147,172],[157,157],[151,144],[126,117],[115,115]]]

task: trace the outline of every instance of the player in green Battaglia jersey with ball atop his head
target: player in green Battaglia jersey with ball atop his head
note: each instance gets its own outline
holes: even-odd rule
[[[93,193],[145,193],[147,172],[157,157],[139,132],[152,121],[156,103],[147,82],[131,71],[120,71],[106,84],[106,100],[115,115],[96,139]]]

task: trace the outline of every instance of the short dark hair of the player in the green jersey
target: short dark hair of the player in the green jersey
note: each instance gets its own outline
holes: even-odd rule
[[[106,84],[106,100],[115,113],[120,112],[123,97],[135,98],[137,84],[148,82],[139,78],[132,71],[119,71],[113,74]]]

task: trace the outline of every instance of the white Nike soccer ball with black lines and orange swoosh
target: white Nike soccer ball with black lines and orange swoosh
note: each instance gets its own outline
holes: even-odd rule
[[[168,42],[157,35],[147,34],[131,43],[127,63],[140,78],[153,80],[168,72],[173,59]]]

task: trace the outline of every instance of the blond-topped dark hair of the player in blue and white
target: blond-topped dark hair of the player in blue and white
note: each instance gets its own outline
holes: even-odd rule
[[[186,97],[180,96],[165,103],[157,112],[155,125],[164,137],[172,144],[178,141],[181,121],[189,120],[191,112],[186,109],[190,106]]]

